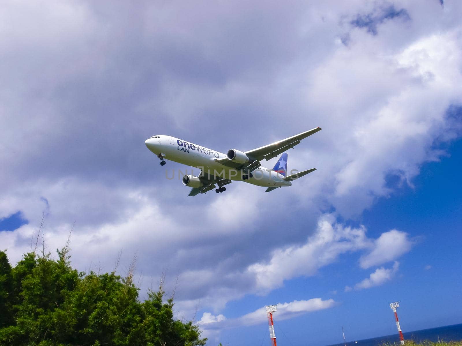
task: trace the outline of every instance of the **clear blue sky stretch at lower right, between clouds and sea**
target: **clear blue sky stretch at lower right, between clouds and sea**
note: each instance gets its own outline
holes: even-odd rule
[[[460,232],[462,196],[457,172],[461,169],[462,141],[450,145],[448,156],[440,162],[424,164],[413,179],[413,188],[403,186],[389,198],[382,198],[361,218],[365,226],[380,232],[396,227],[418,238],[415,251],[402,258],[400,274],[393,282],[358,292],[343,292],[342,283],[360,280],[364,273],[354,268],[350,257],[321,269],[309,280],[297,278],[265,297],[247,297],[237,305],[251,310],[267,302],[299,299],[304,295],[333,296],[338,306],[313,314],[279,322],[276,335],[281,344],[302,345],[304,340],[341,343],[341,326],[346,338],[367,339],[395,334],[396,326],[388,303],[401,300],[398,314],[403,331],[419,330],[461,323],[459,306],[462,298],[460,275]],[[429,268],[431,267],[431,268]],[[234,307],[229,314],[235,311]],[[372,321],[372,322],[371,322]],[[236,333],[222,334],[225,342],[237,344],[251,339],[259,344],[258,332],[264,334],[265,322]],[[266,335],[266,334],[265,334]],[[396,334],[397,335],[397,334]],[[398,338],[398,336],[396,336]]]

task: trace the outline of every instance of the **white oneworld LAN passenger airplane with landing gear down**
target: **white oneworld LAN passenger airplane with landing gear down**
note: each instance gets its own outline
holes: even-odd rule
[[[166,135],[152,136],[146,139],[145,144],[161,160],[161,166],[165,165],[164,159],[167,159],[201,169],[197,177],[186,174],[182,178],[183,185],[191,187],[188,196],[196,196],[213,189],[216,193],[226,191],[225,185],[231,184],[233,180],[264,186],[267,187],[266,192],[269,192],[278,187],[291,186],[293,180],[316,170],[311,168],[286,176],[287,153],[285,151],[321,130],[321,127],[316,127],[260,148],[244,152],[230,149],[226,154]],[[282,154],[280,160],[273,169],[261,166],[261,160],[270,160],[280,154]]]

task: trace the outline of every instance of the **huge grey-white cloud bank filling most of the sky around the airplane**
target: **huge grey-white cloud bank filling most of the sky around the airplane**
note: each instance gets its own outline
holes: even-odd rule
[[[438,144],[460,136],[447,111],[462,104],[462,5],[396,2],[411,20],[377,23],[375,36],[351,24],[389,3],[306,2],[294,11],[257,1],[242,16],[240,3],[44,1],[24,10],[6,1],[0,217],[21,210],[30,224],[0,233],[0,244],[12,262],[27,251],[45,197],[50,249],[76,220],[74,265],[111,270],[121,248],[126,263],[138,251],[147,278],[178,270],[177,308],[201,301],[214,316],[342,254],[365,252],[362,268],[397,259],[412,247],[407,233],[375,239],[334,219],[412,185],[423,163],[444,155]],[[176,25],[162,25],[172,18]],[[143,144],[162,130],[247,150],[317,125],[288,166],[318,170],[269,194],[233,182],[225,194],[186,197]]]

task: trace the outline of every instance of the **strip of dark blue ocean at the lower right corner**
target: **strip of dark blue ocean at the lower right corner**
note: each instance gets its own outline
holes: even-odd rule
[[[451,341],[451,340],[462,340],[462,324],[454,324],[452,326],[444,326],[438,328],[415,330],[413,332],[403,333],[404,340],[414,340],[420,342],[424,340],[430,341]],[[340,334],[341,337],[341,334]],[[377,346],[384,342],[396,343],[399,345],[400,338],[398,332],[396,334],[380,336],[378,338],[371,338],[365,340],[357,340],[358,343],[353,341],[347,341],[346,346]],[[344,346],[344,343],[334,344],[330,346]]]

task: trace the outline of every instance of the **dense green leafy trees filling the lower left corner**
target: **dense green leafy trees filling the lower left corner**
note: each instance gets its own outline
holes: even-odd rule
[[[10,316],[0,345],[205,345],[196,325],[174,319],[162,287],[140,302],[134,266],[124,278],[85,274],[71,267],[68,243],[57,254],[27,253],[11,268],[0,252],[2,318]]]

